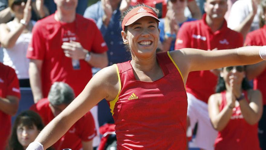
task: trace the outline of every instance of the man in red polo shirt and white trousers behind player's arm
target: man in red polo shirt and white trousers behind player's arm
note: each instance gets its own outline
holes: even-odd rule
[[[203,18],[185,22],[177,34],[175,49],[197,48],[207,51],[238,48],[243,45],[240,33],[227,28],[224,19],[226,0],[207,0]],[[217,70],[194,71],[188,75],[188,127],[198,122],[195,144],[203,149],[213,149],[217,131],[212,127],[208,115],[208,98],[215,93]]]

